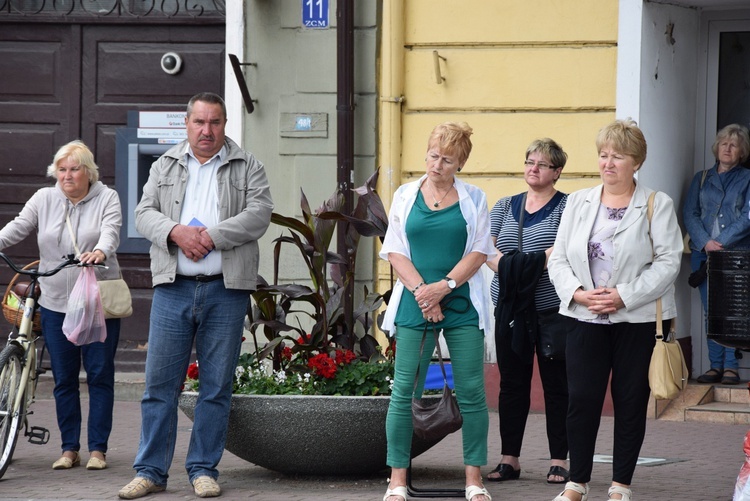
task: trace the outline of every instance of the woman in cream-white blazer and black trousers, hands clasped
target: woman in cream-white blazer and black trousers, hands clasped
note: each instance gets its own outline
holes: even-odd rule
[[[682,238],[672,199],[635,179],[646,140],[632,120],[596,139],[602,184],[568,197],[548,269],[570,317],[566,348],[570,482],[555,501],[585,501],[602,406],[612,375],[614,457],[609,499],[631,501],[630,484],[646,433],[648,366],[656,300],[665,324],[677,314],[674,281]],[[667,326],[668,328],[668,326]]]

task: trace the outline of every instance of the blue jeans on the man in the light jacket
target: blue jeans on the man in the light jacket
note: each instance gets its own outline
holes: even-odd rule
[[[242,345],[249,291],[222,280],[176,279],[154,288],[146,390],[141,401],[141,442],[133,467],[139,477],[166,485],[177,438],[177,404],[195,341],[200,391],[185,460],[190,482],[208,475],[224,452],[232,385]]]

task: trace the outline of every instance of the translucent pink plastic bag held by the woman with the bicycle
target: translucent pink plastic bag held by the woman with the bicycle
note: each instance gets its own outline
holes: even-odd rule
[[[104,308],[94,269],[84,267],[68,298],[63,320],[63,334],[76,346],[103,342],[107,339]]]

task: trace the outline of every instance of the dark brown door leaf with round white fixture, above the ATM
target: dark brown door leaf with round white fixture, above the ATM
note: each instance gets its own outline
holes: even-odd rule
[[[167,52],[182,58],[176,75],[161,69]],[[82,58],[81,138],[114,184],[114,129],[128,110],[182,111],[198,92],[223,93],[224,27],[85,26]]]

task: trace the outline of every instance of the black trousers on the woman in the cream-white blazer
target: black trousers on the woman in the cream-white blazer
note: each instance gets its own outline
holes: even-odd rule
[[[669,321],[665,321],[669,330]],[[655,322],[611,325],[571,322],[568,362],[568,440],[570,480],[591,480],[596,437],[611,379],[615,425],[612,480],[630,485],[646,435],[651,390],[648,366],[654,349]]]

